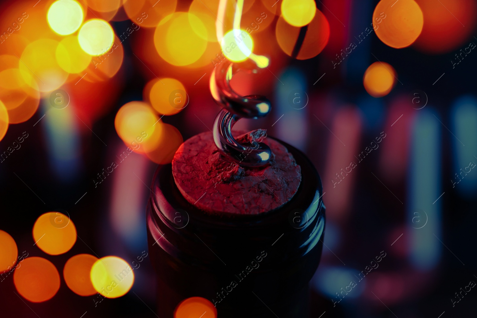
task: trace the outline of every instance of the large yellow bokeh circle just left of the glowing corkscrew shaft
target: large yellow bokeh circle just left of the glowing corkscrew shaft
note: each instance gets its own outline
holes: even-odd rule
[[[166,17],[154,32],[154,44],[159,56],[176,66],[196,62],[206,50],[207,40],[204,39],[207,39],[204,23],[187,12],[176,12]]]

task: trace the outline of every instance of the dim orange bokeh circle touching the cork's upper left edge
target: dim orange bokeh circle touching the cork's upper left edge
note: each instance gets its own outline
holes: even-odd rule
[[[156,164],[170,164],[176,154],[179,146],[184,142],[182,134],[173,125],[164,123],[162,125],[162,132],[156,141],[156,144],[151,145],[152,148],[146,152],[147,157]]]

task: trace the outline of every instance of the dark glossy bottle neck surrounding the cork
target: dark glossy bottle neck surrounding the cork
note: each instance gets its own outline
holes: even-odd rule
[[[282,144],[301,166],[301,184],[290,202],[260,215],[206,214],[180,194],[171,164],[157,168],[147,232],[159,317],[173,317],[177,304],[194,296],[212,301],[220,318],[308,317],[325,207],[314,166]]]

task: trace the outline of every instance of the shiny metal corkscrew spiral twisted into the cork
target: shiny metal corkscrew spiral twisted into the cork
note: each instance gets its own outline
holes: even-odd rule
[[[253,141],[240,144],[232,136],[232,128],[240,118],[257,119],[270,113],[271,103],[262,95],[240,96],[230,87],[232,76],[239,72],[236,63],[220,63],[210,78],[210,92],[222,109],[214,121],[214,142],[227,159],[245,167],[259,167],[270,162],[270,147]],[[256,72],[256,70],[252,70]]]

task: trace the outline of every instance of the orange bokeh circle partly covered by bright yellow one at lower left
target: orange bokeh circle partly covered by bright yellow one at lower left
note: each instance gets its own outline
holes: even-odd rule
[[[63,277],[66,285],[80,296],[91,296],[96,290],[91,283],[91,269],[98,258],[90,254],[78,254],[66,261]]]

